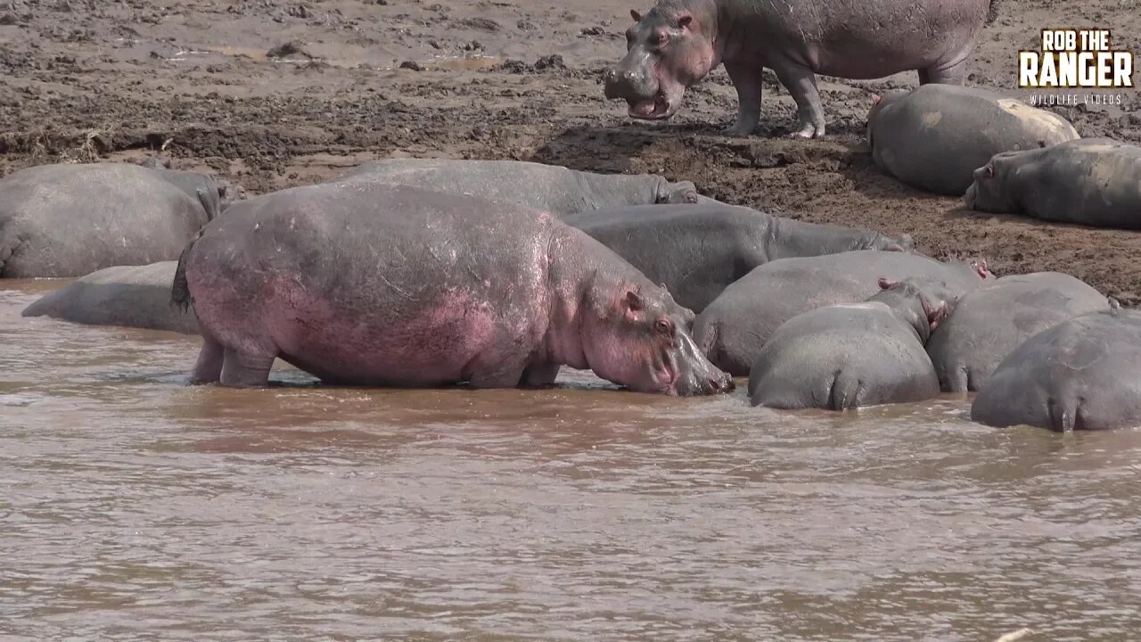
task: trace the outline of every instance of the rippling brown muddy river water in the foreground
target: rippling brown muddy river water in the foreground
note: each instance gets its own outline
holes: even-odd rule
[[[547,392],[188,387],[0,289],[0,635],[1128,640],[1141,433]]]

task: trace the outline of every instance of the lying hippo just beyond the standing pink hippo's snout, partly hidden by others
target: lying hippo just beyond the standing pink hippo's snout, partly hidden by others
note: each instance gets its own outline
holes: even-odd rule
[[[941,281],[956,296],[994,279],[986,262],[859,250],[782,258],[733,283],[694,322],[697,346],[718,368],[748,374],[778,326],[815,307],[858,303],[879,291],[879,279]]]

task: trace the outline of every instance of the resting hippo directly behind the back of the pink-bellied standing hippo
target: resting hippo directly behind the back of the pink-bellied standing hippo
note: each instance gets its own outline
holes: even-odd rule
[[[694,203],[694,184],[653,174],[592,174],[511,160],[386,159],[359,164],[331,182],[377,180],[452,194],[515,201],[559,216],[622,206]],[[704,199],[703,199],[704,200]]]

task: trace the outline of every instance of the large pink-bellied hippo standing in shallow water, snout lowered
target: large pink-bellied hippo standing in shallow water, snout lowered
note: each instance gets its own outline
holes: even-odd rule
[[[186,247],[171,300],[203,336],[194,383],[264,386],[280,358],[350,385],[548,385],[566,364],[641,392],[733,387],[693,312],[606,246],[523,204],[407,185],[235,203]]]

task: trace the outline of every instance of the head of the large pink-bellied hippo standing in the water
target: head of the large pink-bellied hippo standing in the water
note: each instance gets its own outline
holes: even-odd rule
[[[733,378],[694,344],[694,313],[665,288],[620,282],[592,288],[582,348],[596,375],[639,392],[693,396],[733,390]]]

